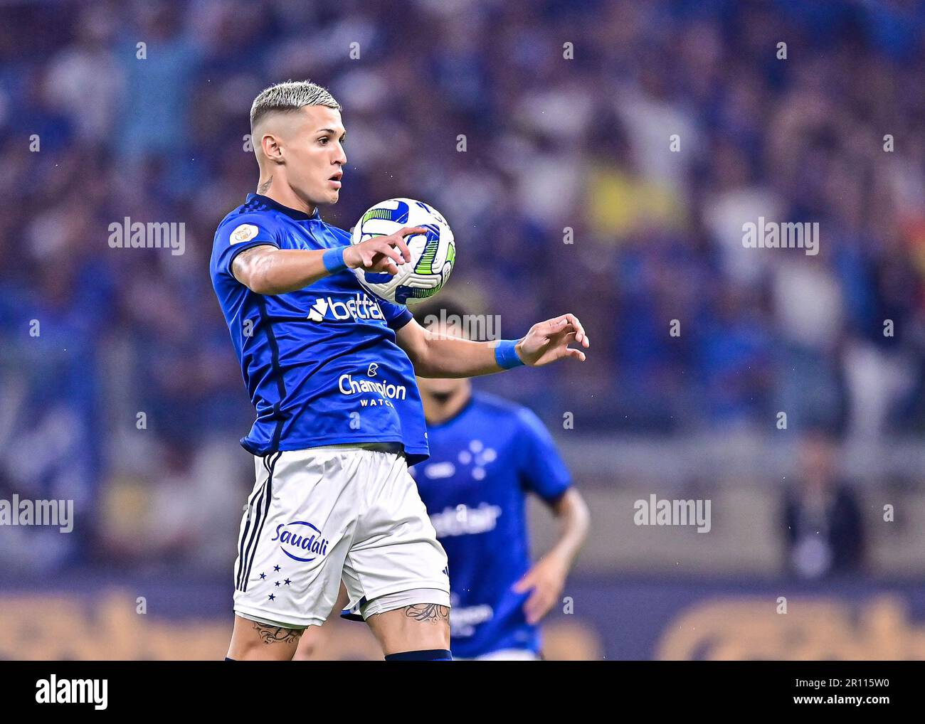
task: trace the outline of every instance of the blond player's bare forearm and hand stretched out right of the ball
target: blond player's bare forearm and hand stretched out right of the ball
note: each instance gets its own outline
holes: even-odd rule
[[[475,377],[501,372],[494,342],[474,342],[432,332],[414,320],[399,329],[396,338],[422,377]],[[574,314],[562,314],[539,322],[517,342],[515,350],[524,364],[540,367],[562,358],[585,362],[585,352],[574,350],[575,341],[587,348],[585,328]]]

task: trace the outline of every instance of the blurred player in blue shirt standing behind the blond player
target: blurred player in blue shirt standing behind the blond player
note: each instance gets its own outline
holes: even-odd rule
[[[440,336],[463,336],[458,305],[427,302],[415,319]],[[418,492],[450,559],[455,658],[532,660],[536,626],[561,599],[589,516],[552,438],[536,415],[467,379],[418,379],[430,458],[414,469]],[[525,497],[561,521],[555,546],[530,564]]]

